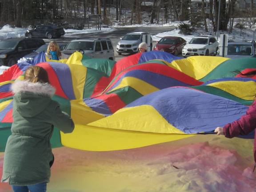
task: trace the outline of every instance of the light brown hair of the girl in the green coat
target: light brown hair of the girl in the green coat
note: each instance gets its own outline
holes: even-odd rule
[[[46,70],[39,66],[29,66],[25,71],[24,80],[32,83],[50,83]]]

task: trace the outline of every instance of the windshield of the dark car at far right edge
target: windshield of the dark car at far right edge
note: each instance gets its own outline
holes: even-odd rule
[[[245,44],[229,44],[228,55],[244,55],[252,56],[252,45]]]

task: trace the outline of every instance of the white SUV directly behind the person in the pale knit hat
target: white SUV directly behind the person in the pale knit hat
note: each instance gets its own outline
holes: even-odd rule
[[[118,55],[122,53],[137,53],[139,52],[138,46],[142,42],[148,44],[148,49],[152,50],[152,37],[148,32],[132,32],[128,33],[116,45],[116,52]]]

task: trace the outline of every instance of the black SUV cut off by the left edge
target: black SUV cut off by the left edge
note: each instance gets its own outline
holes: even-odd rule
[[[42,39],[11,38],[0,41],[0,66],[12,66],[17,60],[45,44]]]

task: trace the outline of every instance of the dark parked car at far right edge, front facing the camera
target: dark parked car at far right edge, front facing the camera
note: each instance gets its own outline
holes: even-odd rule
[[[222,55],[221,53],[219,53]],[[230,59],[255,56],[254,42],[228,42],[228,55]]]

